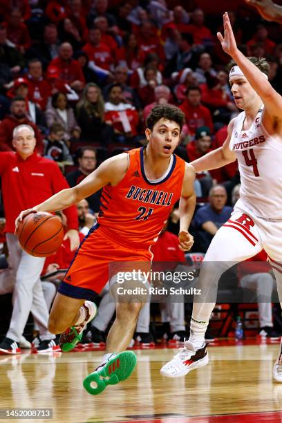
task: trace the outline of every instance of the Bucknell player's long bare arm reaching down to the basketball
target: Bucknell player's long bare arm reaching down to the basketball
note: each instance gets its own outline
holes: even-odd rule
[[[43,203],[32,207],[32,209],[23,210],[17,217],[16,230],[19,222],[30,213],[64,210],[71,207],[71,205],[79,203],[80,200],[91,196],[91,194],[99,191],[105,185],[117,185],[124,177],[128,165],[129,158],[127,153],[118,154],[118,156],[105,160],[95,171],[86,176],[75,187],[62,189],[62,191],[59,191]]]

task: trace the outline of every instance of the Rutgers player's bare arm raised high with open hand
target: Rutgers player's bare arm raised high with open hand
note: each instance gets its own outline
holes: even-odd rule
[[[241,71],[250,82],[254,91],[261,97],[265,105],[265,112],[272,117],[273,123],[282,119],[282,97],[272,88],[270,82],[263,76],[263,73],[247,57],[238,50],[228,13],[223,15],[224,37],[218,32],[217,36],[227,55],[231,56],[238,64]]]

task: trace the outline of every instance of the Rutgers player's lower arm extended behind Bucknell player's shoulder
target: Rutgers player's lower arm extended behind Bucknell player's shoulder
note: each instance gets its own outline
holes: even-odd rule
[[[229,142],[234,126],[234,119],[230,120],[228,124],[228,135],[222,147],[210,151],[205,156],[194,160],[190,164],[194,167],[196,172],[203,172],[212,169],[218,169],[226,164],[232,163],[236,160],[236,154],[229,150]]]

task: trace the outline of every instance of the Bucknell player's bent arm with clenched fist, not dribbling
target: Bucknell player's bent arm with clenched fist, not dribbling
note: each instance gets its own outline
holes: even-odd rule
[[[188,232],[195,205],[196,195],[194,192],[195,171],[191,164],[185,164],[185,175],[182,182],[182,191],[179,201],[179,248],[182,251],[189,251],[194,244],[194,238]]]

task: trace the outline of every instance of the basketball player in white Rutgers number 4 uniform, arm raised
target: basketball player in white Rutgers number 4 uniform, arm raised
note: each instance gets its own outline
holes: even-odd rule
[[[186,375],[208,363],[205,331],[216,302],[218,279],[234,263],[264,249],[282,303],[282,97],[267,81],[265,59],[248,59],[238,50],[227,12],[223,23],[224,37],[218,32],[218,39],[233,59],[229,82],[234,101],[243,112],[229,123],[223,147],[191,164],[200,172],[237,159],[241,199],[207,250],[197,287],[203,289],[204,298],[194,301],[189,341],[161,369],[168,377]],[[282,382],[282,353],[274,364],[273,376]]]

